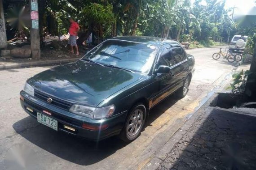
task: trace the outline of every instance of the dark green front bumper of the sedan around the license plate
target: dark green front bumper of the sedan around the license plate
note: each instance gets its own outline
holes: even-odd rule
[[[44,114],[43,110],[46,110],[52,115],[44,115],[58,121],[58,131],[66,132],[75,136],[80,136],[88,140],[102,140],[110,136],[118,135],[125,123],[127,111],[114,115],[108,119],[96,120],[75,115],[66,110],[62,110],[58,107],[52,106],[47,102],[31,97],[24,91],[21,91],[20,94],[24,98],[24,101],[20,100],[21,106],[27,114],[37,119],[37,112]],[[29,109],[27,109],[27,107]],[[31,109],[33,111],[31,111]],[[107,127],[106,129],[102,130],[89,130],[82,127],[83,123],[86,123],[87,125],[93,127]],[[75,132],[65,128],[64,125],[74,128]]]

